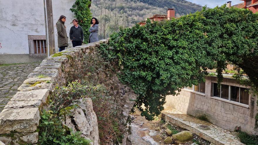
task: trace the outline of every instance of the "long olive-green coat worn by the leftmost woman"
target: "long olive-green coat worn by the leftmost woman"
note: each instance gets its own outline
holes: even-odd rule
[[[58,47],[68,46],[68,37],[66,33],[65,22],[58,20],[56,25],[57,25],[57,34],[58,34],[57,36]]]

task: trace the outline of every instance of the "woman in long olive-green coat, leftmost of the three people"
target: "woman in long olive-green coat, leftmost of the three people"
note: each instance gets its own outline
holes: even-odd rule
[[[65,47],[68,46],[68,37],[66,33],[66,27],[65,27],[65,21],[66,17],[64,15],[61,15],[59,20],[57,21],[57,42],[59,51],[65,50]]]

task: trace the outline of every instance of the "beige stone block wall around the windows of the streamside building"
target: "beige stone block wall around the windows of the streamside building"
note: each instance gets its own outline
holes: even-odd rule
[[[165,105],[194,117],[206,115],[211,123],[230,131],[240,126],[242,131],[258,134],[254,129],[254,117],[257,113],[256,97],[249,95],[249,106],[212,97],[213,82],[217,82],[215,77],[206,78],[205,94],[182,89],[178,96],[168,95]],[[234,79],[224,78],[222,84],[245,88]]]

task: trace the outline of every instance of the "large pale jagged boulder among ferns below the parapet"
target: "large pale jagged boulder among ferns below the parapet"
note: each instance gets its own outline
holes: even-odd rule
[[[64,124],[74,131],[82,132],[82,137],[90,139],[93,145],[99,145],[98,120],[92,107],[91,98],[79,100],[79,107],[66,116]]]

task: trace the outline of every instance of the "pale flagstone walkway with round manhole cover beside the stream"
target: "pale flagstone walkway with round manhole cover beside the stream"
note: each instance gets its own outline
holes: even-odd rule
[[[164,108],[162,117],[165,118],[166,122],[185,128],[215,145],[244,145],[234,133],[228,130],[183,114],[174,108],[169,108],[168,106],[164,106]],[[201,128],[199,127],[200,125],[206,125],[209,129]]]

